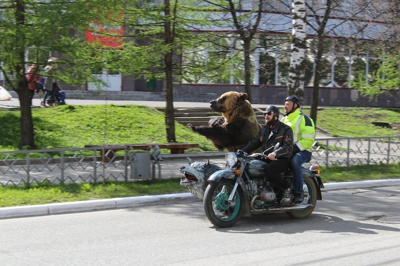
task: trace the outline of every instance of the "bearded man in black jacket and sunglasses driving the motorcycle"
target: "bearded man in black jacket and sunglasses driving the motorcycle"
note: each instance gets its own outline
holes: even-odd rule
[[[264,172],[276,187],[283,190],[283,198],[280,201],[280,205],[287,206],[292,201],[293,195],[290,193],[290,185],[283,182],[280,173],[286,172],[290,168],[293,156],[292,130],[289,126],[279,121],[279,109],[276,106],[268,106],[265,109],[264,116],[265,126],[261,128],[253,140],[242,148],[242,151],[249,153],[259,147],[262,147],[262,150],[265,151],[279,143],[279,148],[271,151],[265,158],[268,164],[264,167]]]

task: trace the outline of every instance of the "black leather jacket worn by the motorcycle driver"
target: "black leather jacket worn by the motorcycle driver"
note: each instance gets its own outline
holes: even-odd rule
[[[280,121],[273,128],[263,126],[257,136],[249,141],[241,150],[250,153],[262,147],[262,151],[265,151],[269,147],[275,146],[276,143],[279,143],[279,148],[275,151],[277,158],[291,159],[293,157],[293,132],[288,125]],[[267,154],[272,151],[270,149]]]

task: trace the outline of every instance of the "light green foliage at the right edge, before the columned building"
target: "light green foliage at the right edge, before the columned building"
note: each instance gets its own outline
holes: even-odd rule
[[[362,96],[369,96],[369,100],[373,100],[387,91],[399,90],[399,56],[382,55],[384,60],[372,75],[366,77],[364,70],[360,70],[356,73],[356,79],[350,82],[350,86],[356,88]]]

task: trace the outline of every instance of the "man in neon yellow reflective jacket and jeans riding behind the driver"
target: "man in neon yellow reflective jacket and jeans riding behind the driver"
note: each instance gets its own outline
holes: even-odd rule
[[[291,95],[285,99],[285,115],[280,120],[293,131],[293,158],[291,170],[294,179],[294,204],[302,203],[303,175],[301,165],[311,160],[311,146],[315,141],[314,122],[300,112],[300,100]]]

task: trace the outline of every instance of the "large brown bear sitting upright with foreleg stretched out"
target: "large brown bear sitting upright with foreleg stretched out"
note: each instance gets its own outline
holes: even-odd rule
[[[210,107],[222,117],[211,118],[208,126],[187,126],[210,140],[218,150],[235,152],[252,140],[261,128],[246,98],[246,93],[225,92],[210,101]]]

